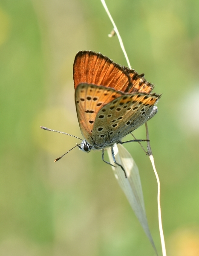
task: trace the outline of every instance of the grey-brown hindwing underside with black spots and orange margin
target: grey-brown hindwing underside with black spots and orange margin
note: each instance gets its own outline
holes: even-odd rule
[[[98,112],[92,138],[101,147],[118,143],[121,139],[147,122],[160,95],[133,93],[123,95],[104,105]]]

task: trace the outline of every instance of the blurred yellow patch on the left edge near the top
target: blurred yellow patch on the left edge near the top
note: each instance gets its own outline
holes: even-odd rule
[[[10,18],[8,14],[0,8],[0,46],[8,39],[10,31]]]

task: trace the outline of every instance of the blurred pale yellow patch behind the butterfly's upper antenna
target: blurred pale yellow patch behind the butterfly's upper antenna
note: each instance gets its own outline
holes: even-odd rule
[[[65,134],[42,130],[40,126],[83,138],[77,119],[65,108],[48,108],[38,113],[33,122],[34,141],[40,148],[57,156],[74,147],[76,143],[81,143],[81,140]]]

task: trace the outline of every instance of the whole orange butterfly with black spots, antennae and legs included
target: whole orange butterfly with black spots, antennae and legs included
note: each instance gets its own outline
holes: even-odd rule
[[[73,79],[78,122],[84,137],[76,146],[84,152],[102,150],[102,160],[106,163],[104,149],[111,148],[114,163],[126,176],[124,168],[115,160],[113,145],[126,143],[121,141],[123,137],[157,113],[156,103],[161,95],[151,93],[154,85],[144,79],[144,74],[138,75],[135,70],[92,51],[77,53]],[[128,142],[131,141],[146,140]]]

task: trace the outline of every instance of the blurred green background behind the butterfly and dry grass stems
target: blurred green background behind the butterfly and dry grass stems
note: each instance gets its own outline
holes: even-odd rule
[[[162,93],[148,126],[167,254],[198,256],[199,1],[107,6],[132,67]],[[79,50],[93,50],[127,65],[117,37],[107,37],[111,30],[100,0],[0,0],[1,256],[154,255],[101,152],[75,148],[54,163],[79,140],[39,128],[82,137],[73,61]],[[134,134],[144,139],[144,126]],[[161,252],[153,169],[138,143],[125,147],[140,170]]]

